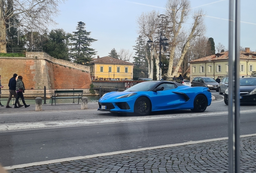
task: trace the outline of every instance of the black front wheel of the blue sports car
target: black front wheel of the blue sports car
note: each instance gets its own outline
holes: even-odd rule
[[[134,113],[146,116],[151,113],[151,102],[147,97],[139,97],[134,103]]]

